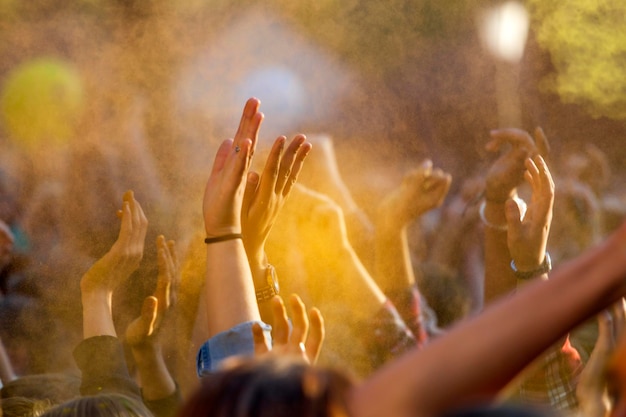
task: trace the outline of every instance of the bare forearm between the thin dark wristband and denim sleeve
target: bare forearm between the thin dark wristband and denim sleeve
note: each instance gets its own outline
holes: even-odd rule
[[[207,245],[205,294],[211,336],[260,320],[252,273],[241,239]]]

